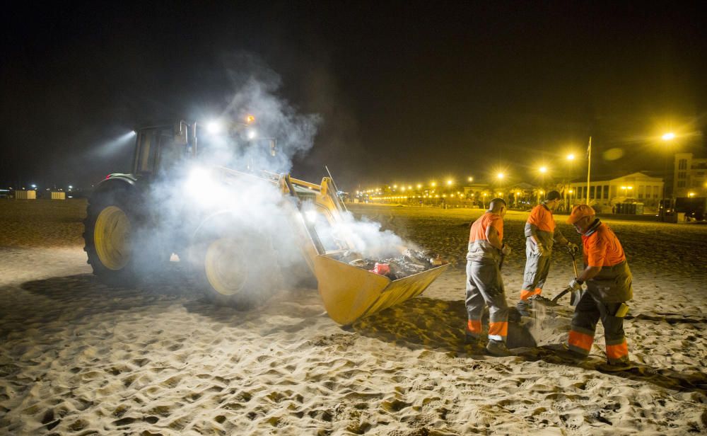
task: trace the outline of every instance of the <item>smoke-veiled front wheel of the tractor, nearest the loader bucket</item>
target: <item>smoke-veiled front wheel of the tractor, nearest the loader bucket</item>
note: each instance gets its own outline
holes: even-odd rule
[[[255,234],[201,237],[189,253],[197,286],[218,304],[250,309],[281,287],[279,265],[269,244]]]

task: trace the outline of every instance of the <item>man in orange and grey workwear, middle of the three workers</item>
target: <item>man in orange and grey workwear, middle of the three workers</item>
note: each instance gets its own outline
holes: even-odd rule
[[[541,294],[550,271],[550,256],[554,243],[567,247],[573,254],[579,251],[577,244],[568,241],[555,226],[552,212],[560,201],[560,193],[551,190],[545,196],[544,202],[533,208],[525,222],[525,273],[520,289],[520,301],[516,305],[523,316],[529,315],[530,297],[533,297],[534,301],[547,302]]]

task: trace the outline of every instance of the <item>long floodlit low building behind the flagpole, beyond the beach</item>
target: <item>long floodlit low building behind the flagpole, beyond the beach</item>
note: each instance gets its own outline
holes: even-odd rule
[[[648,207],[656,207],[662,197],[662,188],[662,178],[648,176],[643,172],[610,179],[599,178],[590,180],[589,202],[597,206],[597,209],[602,209],[602,212],[610,211],[615,204],[624,202],[640,202]],[[570,183],[568,196],[573,205],[586,202],[587,183]]]

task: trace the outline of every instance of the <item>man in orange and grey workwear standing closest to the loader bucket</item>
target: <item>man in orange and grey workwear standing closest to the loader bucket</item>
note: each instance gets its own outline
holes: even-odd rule
[[[510,254],[503,244],[503,217],[506,201],[494,198],[489,210],[481,215],[469,231],[467,253],[467,343],[481,340],[481,315],[489,306],[489,343],[486,350],[495,356],[510,356],[508,336],[508,304],[501,278],[501,259]]]

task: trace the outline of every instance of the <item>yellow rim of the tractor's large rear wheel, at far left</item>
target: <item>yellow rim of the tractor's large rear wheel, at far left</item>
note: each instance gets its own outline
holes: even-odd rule
[[[121,270],[130,260],[130,220],[119,207],[108,206],[98,214],[93,243],[100,263],[109,270]]]

